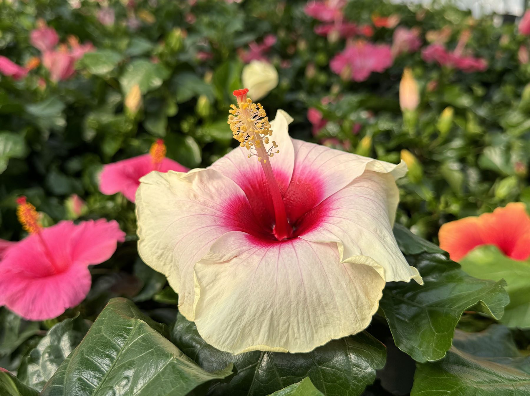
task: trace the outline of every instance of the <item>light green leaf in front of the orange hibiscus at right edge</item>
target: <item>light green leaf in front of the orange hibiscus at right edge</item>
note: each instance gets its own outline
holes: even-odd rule
[[[467,274],[484,279],[506,280],[510,303],[501,322],[509,327],[530,327],[530,262],[512,260],[492,245],[473,249],[462,260]]]

